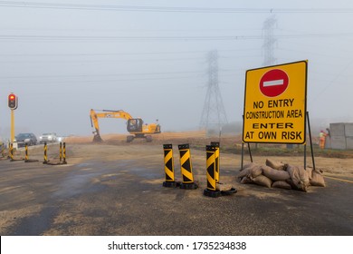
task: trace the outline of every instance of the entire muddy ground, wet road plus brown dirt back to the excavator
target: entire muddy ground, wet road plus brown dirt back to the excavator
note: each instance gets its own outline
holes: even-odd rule
[[[43,164],[43,146],[0,161],[1,235],[353,235],[353,151],[318,151],[316,168],[326,187],[308,192],[241,184],[239,136],[208,137],[204,132],[166,132],[153,142],[126,135],[103,135],[66,141],[67,164]],[[237,192],[206,197],[205,145],[221,142],[220,181]],[[178,144],[189,143],[196,190],[165,188],[162,144],[172,143],[176,181],[181,181]],[[262,148],[263,147],[263,148]],[[245,147],[243,163],[250,162]],[[310,149],[308,149],[310,151]],[[323,152],[323,153],[322,153]],[[6,157],[6,156],[5,156]],[[59,144],[48,145],[48,158],[59,161]],[[297,147],[271,152],[260,145],[253,161],[303,165]],[[310,152],[306,163],[312,166]]]

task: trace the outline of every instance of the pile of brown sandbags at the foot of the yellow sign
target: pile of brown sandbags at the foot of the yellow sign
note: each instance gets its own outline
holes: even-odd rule
[[[246,164],[237,177],[241,183],[255,183],[267,188],[307,191],[310,185],[326,186],[321,171],[271,160],[266,160],[265,165]]]

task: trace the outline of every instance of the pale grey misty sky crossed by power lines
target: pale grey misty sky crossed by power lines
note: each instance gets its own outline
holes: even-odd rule
[[[309,61],[310,119],[352,122],[352,1],[0,1],[0,135],[11,92],[16,133],[90,135],[91,108],[196,129],[214,50],[228,122],[240,122],[245,71],[262,67],[272,16],[275,64]],[[119,119],[100,127],[126,132]]]

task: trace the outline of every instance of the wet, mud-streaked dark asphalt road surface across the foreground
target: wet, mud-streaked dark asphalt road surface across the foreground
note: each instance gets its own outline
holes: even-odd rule
[[[70,162],[70,160],[69,160]],[[68,165],[0,161],[1,235],[353,235],[351,182],[309,192],[235,181],[232,196],[162,187],[163,162],[90,160]]]

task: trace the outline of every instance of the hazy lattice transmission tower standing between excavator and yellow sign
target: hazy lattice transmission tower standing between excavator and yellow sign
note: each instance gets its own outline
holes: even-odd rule
[[[208,84],[205,96],[204,109],[202,111],[200,128],[205,130],[220,129],[228,123],[222,95],[218,85],[218,53],[216,50],[207,55],[208,58]]]

